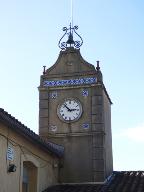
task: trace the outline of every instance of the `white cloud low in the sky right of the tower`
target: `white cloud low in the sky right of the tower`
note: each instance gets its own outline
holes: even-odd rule
[[[125,137],[136,142],[144,143],[144,124],[137,127],[124,129],[115,136]]]

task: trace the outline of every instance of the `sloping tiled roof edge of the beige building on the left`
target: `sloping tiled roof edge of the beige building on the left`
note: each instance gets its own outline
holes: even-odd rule
[[[11,129],[19,133],[20,135],[26,137],[26,139],[30,140],[31,142],[38,144],[43,150],[56,155],[58,157],[62,157],[64,154],[64,147],[57,145],[52,142],[46,142],[42,139],[39,135],[34,133],[20,121],[15,119],[13,116],[8,114],[4,109],[0,108],[0,122],[3,122]]]

